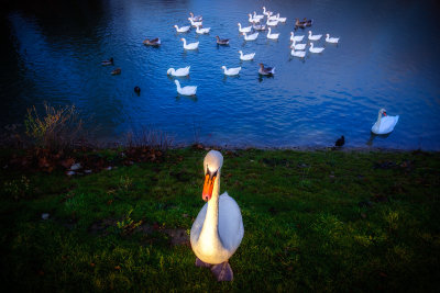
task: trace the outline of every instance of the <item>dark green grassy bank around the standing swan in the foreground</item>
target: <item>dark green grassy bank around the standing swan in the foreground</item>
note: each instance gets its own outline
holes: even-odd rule
[[[194,266],[207,151],[69,178],[2,168],[1,282],[14,291],[436,291],[440,154],[223,151],[241,207],[234,281]],[[3,153],[3,159],[4,159]],[[112,156],[114,151],[109,151]],[[2,166],[3,167],[3,166]],[[23,179],[24,178],[24,179]],[[43,213],[50,218],[42,219]],[[140,228],[141,227],[141,228]]]

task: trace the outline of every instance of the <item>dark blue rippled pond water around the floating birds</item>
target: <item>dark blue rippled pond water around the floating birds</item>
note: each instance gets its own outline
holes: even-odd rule
[[[61,3],[62,2],[62,3]],[[328,146],[344,135],[346,146],[440,149],[440,41],[435,1],[46,1],[11,9],[2,18],[1,125],[22,122],[26,108],[75,104],[116,140],[130,129],[151,126],[190,144],[286,147]],[[47,4],[50,3],[50,4]],[[287,18],[274,31],[244,42],[238,22],[270,10]],[[173,25],[187,25],[189,12],[202,14],[209,35],[185,52]],[[305,60],[289,55],[295,18],[312,18],[323,38],[322,54]],[[298,30],[306,34],[308,30]],[[231,38],[218,47],[215,36]],[[162,47],[145,47],[145,37]],[[255,52],[241,63],[238,50]],[[102,67],[113,57],[114,67]],[[258,63],[276,67],[261,78]],[[224,77],[221,66],[238,67]],[[169,67],[191,66],[183,86],[198,86],[197,97],[178,97]],[[116,67],[120,76],[111,76]],[[142,89],[138,97],[134,86]],[[388,137],[371,140],[381,108],[400,115]]]

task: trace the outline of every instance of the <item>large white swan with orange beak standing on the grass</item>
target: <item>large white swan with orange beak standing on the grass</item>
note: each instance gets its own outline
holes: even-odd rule
[[[228,260],[239,248],[244,227],[237,202],[227,192],[219,195],[222,165],[223,156],[217,150],[210,150],[205,157],[201,196],[207,203],[193,224],[190,241],[196,266],[210,267],[218,281],[232,281]]]

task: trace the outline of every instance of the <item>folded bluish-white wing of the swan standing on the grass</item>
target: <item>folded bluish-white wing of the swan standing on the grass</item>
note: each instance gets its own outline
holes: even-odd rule
[[[219,235],[222,245],[235,251],[243,238],[244,227],[240,207],[227,192],[219,198]]]

